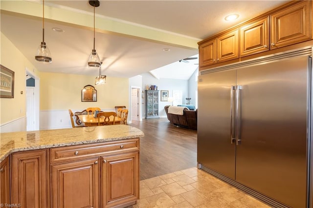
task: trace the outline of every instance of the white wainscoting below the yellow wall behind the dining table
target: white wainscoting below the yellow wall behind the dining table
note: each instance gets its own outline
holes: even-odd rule
[[[77,111],[81,112],[84,109],[71,109],[71,110],[73,111],[73,113],[75,113]],[[101,110],[115,112],[115,108],[106,108]],[[40,116],[39,124],[40,130],[72,127],[68,110],[41,110],[39,112],[39,116]],[[128,122],[128,124],[130,123]]]

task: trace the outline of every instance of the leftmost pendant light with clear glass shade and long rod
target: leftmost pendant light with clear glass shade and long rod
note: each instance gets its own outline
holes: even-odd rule
[[[52,58],[49,48],[45,45],[45,0],[43,0],[43,42],[39,45],[35,56],[37,62],[51,63]]]

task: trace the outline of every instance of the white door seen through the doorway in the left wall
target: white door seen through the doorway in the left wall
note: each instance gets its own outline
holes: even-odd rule
[[[35,130],[35,94],[34,87],[26,87],[26,118],[27,131]]]

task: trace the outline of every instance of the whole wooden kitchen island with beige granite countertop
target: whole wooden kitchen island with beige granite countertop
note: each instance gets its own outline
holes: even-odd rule
[[[139,138],[128,125],[0,134],[0,204],[127,207],[139,198]]]

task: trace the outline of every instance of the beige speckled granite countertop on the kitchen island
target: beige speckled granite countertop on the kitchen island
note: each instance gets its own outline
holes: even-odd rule
[[[0,162],[13,152],[143,137],[129,125],[104,125],[0,134]]]

